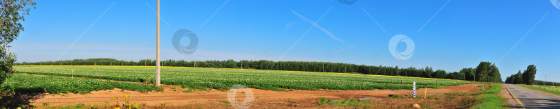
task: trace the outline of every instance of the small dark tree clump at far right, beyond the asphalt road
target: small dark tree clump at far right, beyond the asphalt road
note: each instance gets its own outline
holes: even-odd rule
[[[519,70],[517,74],[505,78],[505,83],[532,85],[533,83],[535,83],[534,75],[536,75],[536,66],[529,65],[527,66],[527,69],[523,70],[523,73],[521,73],[521,70]]]

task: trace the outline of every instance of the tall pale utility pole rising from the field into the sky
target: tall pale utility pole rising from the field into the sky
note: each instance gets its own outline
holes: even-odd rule
[[[156,11],[156,86],[160,86],[160,0],[157,1]]]

